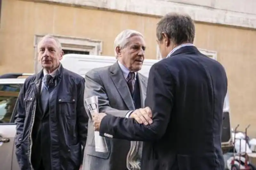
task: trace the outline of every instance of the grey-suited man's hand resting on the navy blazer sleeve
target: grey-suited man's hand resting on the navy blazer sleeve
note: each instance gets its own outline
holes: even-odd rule
[[[152,112],[149,107],[134,110],[129,116],[129,118],[134,118],[138,123],[143,123],[144,125],[153,123],[151,119]]]

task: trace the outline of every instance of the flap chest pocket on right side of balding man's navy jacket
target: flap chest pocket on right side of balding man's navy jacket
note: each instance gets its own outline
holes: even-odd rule
[[[60,96],[58,99],[59,110],[68,119],[76,119],[76,99],[71,96]]]

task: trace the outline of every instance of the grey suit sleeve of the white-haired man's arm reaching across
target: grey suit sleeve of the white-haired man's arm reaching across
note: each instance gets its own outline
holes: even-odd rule
[[[117,110],[110,107],[108,95],[101,81],[100,74],[95,70],[89,71],[85,75],[84,99],[98,96],[99,112],[104,112],[108,115],[125,117],[130,110]]]

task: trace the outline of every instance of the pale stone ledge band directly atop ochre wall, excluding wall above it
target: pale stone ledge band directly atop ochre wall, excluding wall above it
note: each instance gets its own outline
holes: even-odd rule
[[[229,26],[256,28],[256,14],[229,11],[209,6],[172,2],[170,0],[30,0],[71,6],[100,8],[142,15],[163,16],[169,12],[189,14],[195,21]]]

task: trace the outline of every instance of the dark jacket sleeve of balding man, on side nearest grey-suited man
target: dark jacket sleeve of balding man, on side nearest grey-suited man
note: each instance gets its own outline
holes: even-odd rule
[[[81,79],[77,86],[77,128],[78,128],[78,136],[79,142],[81,142],[83,146],[82,156],[84,155],[84,147],[87,139],[87,130],[88,130],[88,120],[89,117],[86,114],[84,108],[84,78]],[[83,159],[82,159],[83,160]]]

